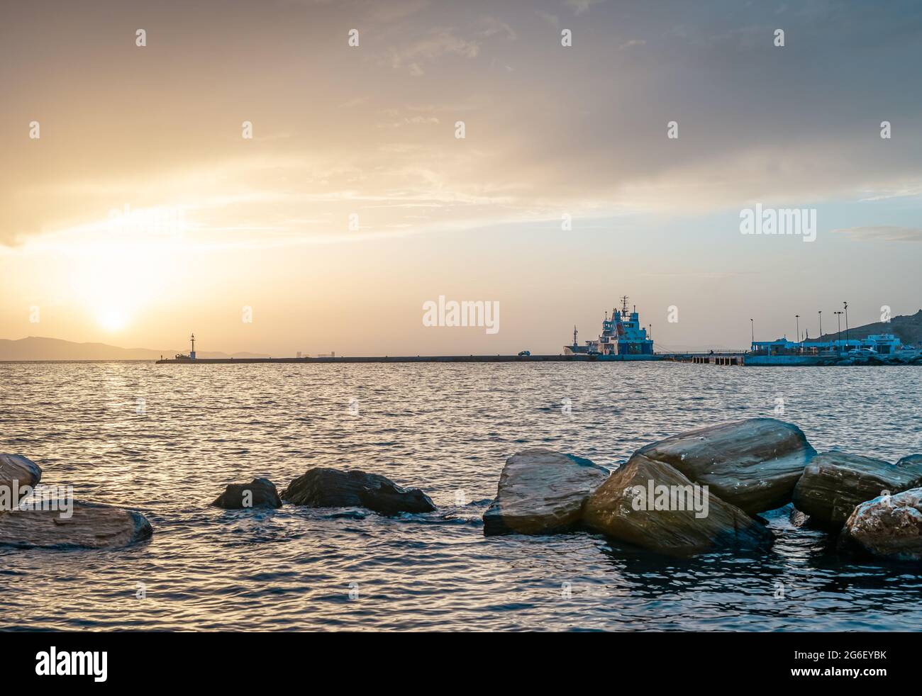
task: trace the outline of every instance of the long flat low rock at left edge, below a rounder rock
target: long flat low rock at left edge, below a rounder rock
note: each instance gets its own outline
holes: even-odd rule
[[[0,545],[43,549],[118,549],[150,537],[153,530],[133,510],[74,502],[69,518],[61,511],[0,513]]]

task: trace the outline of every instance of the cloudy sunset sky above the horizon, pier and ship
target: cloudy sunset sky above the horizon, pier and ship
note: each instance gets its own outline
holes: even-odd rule
[[[0,338],[558,353],[628,295],[660,349],[743,348],[915,313],[920,77],[916,2],[5,3]],[[815,240],[742,234],[757,205]],[[425,325],[440,296],[499,330]]]

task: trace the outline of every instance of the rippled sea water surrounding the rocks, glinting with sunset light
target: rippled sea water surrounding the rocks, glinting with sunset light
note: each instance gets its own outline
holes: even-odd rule
[[[922,452],[920,386],[918,368],[0,364],[0,451],[155,530],[114,551],[0,549],[0,628],[916,631],[922,567],[844,562],[785,514],[770,551],[693,560],[585,533],[485,538],[480,516],[527,446],[614,467],[678,431],[774,416],[779,398],[818,450],[892,461]],[[310,466],[381,473],[440,509],[208,506]]]

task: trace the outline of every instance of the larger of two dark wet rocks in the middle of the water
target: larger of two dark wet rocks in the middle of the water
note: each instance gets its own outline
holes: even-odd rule
[[[390,478],[363,471],[318,466],[291,481],[282,500],[315,508],[363,507],[375,513],[431,513],[435,505],[420,489],[405,489]]]

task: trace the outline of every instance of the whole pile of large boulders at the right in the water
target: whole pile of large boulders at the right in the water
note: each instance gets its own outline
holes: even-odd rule
[[[596,488],[574,476],[574,466],[595,465],[543,450],[510,457],[496,501],[484,515],[484,534],[563,531],[555,527],[565,513],[566,531],[594,531],[687,556],[771,544],[760,513],[793,504],[795,526],[838,535],[839,549],[922,560],[919,454],[896,464],[818,454],[790,423],[747,419],[646,445]],[[527,526],[519,524],[522,519]]]

